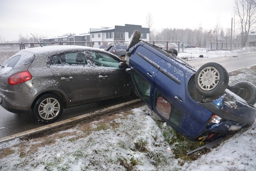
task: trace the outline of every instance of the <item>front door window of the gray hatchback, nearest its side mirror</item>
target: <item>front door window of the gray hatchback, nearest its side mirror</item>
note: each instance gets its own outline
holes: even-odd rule
[[[92,58],[97,66],[115,67],[119,68],[120,60],[102,52],[93,51]]]

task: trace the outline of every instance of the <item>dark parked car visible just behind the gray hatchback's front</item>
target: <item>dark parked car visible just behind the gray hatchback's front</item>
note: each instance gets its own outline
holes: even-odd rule
[[[105,51],[115,54],[120,59],[124,59],[127,43],[109,43]]]

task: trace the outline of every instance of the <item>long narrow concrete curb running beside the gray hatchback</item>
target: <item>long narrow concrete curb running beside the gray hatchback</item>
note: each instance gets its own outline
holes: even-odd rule
[[[45,131],[45,130],[48,130],[48,129],[51,129],[51,128],[56,128],[56,127],[59,127],[59,126],[62,126],[62,125],[65,125],[65,124],[68,124],[68,123],[71,123],[71,122],[75,122],[75,121],[78,121],[78,120],[85,119],[85,118],[90,117],[90,116],[99,115],[101,113],[107,113],[107,112],[110,112],[112,110],[114,111],[114,110],[120,109],[120,108],[122,108],[126,105],[136,104],[140,101],[141,101],[140,99],[134,99],[134,100],[131,100],[131,101],[128,101],[128,102],[118,104],[118,105],[107,107],[105,109],[97,110],[95,112],[86,113],[86,114],[83,114],[83,115],[80,115],[80,116],[76,116],[74,118],[70,118],[70,119],[67,119],[67,120],[62,120],[62,121],[59,121],[59,122],[54,122],[54,123],[49,124],[49,125],[45,125],[45,126],[42,126],[42,127],[39,127],[39,128],[30,129],[28,131],[13,134],[11,136],[6,136],[6,137],[3,137],[3,138],[0,138],[0,143],[7,142],[7,141],[13,140],[15,138],[20,138],[20,137],[23,137],[23,136],[28,136],[28,135],[32,135],[32,134],[35,134],[35,133],[39,133],[39,132],[42,132],[42,131]]]

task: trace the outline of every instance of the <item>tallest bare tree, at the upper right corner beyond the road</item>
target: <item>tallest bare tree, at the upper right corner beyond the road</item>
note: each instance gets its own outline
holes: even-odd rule
[[[242,31],[240,39],[244,47],[248,39],[248,34],[256,22],[255,0],[235,0],[234,10],[239,17]]]

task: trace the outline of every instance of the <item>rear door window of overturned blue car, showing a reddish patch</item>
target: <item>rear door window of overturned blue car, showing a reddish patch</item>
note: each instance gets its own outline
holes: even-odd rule
[[[178,127],[182,119],[182,112],[170,103],[162,94],[156,91],[155,109],[165,119],[169,120],[174,126]]]

